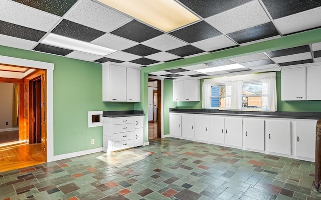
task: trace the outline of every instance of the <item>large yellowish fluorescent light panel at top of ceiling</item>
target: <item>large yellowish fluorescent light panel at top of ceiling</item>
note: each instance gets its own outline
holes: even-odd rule
[[[200,18],[174,0],[98,1],[165,32],[200,20]]]

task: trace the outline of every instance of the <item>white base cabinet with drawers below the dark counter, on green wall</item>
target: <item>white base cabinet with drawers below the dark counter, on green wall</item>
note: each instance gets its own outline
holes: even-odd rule
[[[144,116],[103,117],[103,151],[143,145]]]

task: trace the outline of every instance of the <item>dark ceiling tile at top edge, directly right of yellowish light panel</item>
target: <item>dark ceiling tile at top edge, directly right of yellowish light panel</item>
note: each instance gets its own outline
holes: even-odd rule
[[[203,18],[207,18],[224,11],[230,10],[234,7],[240,6],[251,0],[225,0],[225,1],[195,1],[195,0],[179,0],[185,6],[190,8],[195,13]]]

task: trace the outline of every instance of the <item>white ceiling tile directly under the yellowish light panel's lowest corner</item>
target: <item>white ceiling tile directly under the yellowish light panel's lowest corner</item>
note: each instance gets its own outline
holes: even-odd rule
[[[183,42],[179,39],[176,39],[173,36],[169,36],[167,34],[157,36],[157,37],[152,38],[150,40],[144,41],[141,44],[143,44],[147,47],[161,50],[161,51],[168,51],[171,49],[176,49],[176,48],[188,45],[188,43],[185,43],[185,42]]]

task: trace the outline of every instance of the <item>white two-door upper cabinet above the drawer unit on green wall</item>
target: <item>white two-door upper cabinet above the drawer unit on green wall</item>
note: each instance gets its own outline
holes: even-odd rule
[[[114,63],[102,64],[102,100],[140,101],[140,69]]]

